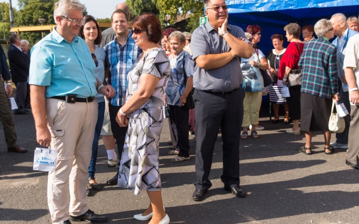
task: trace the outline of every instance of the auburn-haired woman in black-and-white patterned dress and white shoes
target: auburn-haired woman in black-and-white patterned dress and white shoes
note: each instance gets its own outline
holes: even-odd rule
[[[132,21],[132,37],[143,53],[128,74],[126,103],[117,114],[120,126],[127,126],[126,141],[119,169],[118,185],[138,195],[146,190],[150,207],[134,216],[150,224],[168,224],[163,207],[159,172],[159,140],[163,126],[162,106],[171,67],[166,52],[159,45],[160,20],[145,13]]]

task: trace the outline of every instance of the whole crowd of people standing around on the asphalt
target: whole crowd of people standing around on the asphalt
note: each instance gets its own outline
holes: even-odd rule
[[[59,0],[54,9],[56,27],[32,47],[31,55],[28,41],[10,36],[11,76],[0,47],[1,75],[7,84],[0,92],[0,116],[8,151],[27,151],[16,144],[7,106],[11,77],[17,90],[15,114],[28,114],[31,109],[37,142],[58,151],[55,171],[48,174],[52,223],[107,221],[86,204],[90,190],[102,190],[95,179],[102,136],[108,166],[117,167],[107,184],[135,195],[146,191],[150,205],[134,219],[168,224],[159,171],[159,140],[167,115],[172,162],[190,159],[188,137],[195,134],[192,199],[201,201],[212,185],[209,173],[219,129],[223,189],[245,197],[239,180],[239,140],[260,137],[263,91],[273,104],[273,123],[279,122],[283,105],[283,122],[293,122],[286,133],[305,132],[301,152],[312,154],[313,131],[323,131],[325,154],[348,148],[346,163],[359,169],[355,137],[359,129],[358,18],[347,20],[337,13],[314,26],[290,23],[283,27],[285,37],[281,33],[271,36],[274,48],[264,55],[258,47],[260,26],[248,25],[244,32],[228,24],[224,0],[203,3],[208,22],[193,33],[175,28],[163,31],[152,13],[138,15],[130,23],[125,3],[116,5],[112,27],[101,32],[93,16],[82,16],[82,3]],[[265,86],[267,76],[269,86]],[[290,96],[282,95],[283,88],[288,88]],[[345,131],[337,133],[331,143],[328,122],[333,101],[344,103],[350,114],[345,116]]]

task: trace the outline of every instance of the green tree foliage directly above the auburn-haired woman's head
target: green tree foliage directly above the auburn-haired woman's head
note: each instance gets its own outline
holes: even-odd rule
[[[160,9],[157,5],[158,0],[126,0],[126,4],[129,6],[131,12],[130,21],[145,12],[152,12],[160,16]]]

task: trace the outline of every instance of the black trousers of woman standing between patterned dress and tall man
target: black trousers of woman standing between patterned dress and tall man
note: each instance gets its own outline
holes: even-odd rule
[[[189,111],[184,106],[168,105],[171,128],[174,132],[174,136],[177,142],[177,148],[179,148],[179,156],[189,157],[189,140],[188,140],[188,119]],[[175,124],[175,125],[172,125]],[[176,130],[174,130],[176,126]]]

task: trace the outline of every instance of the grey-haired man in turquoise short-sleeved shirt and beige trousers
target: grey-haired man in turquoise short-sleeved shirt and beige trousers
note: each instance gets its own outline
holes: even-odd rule
[[[98,112],[94,96],[112,97],[114,91],[96,80],[90,50],[76,35],[84,23],[84,9],[78,0],[56,2],[57,26],[31,50],[29,84],[36,139],[57,149],[55,171],[49,172],[47,184],[51,222],[56,224],[69,224],[70,218],[91,223],[107,220],[88,209],[85,189]]]

